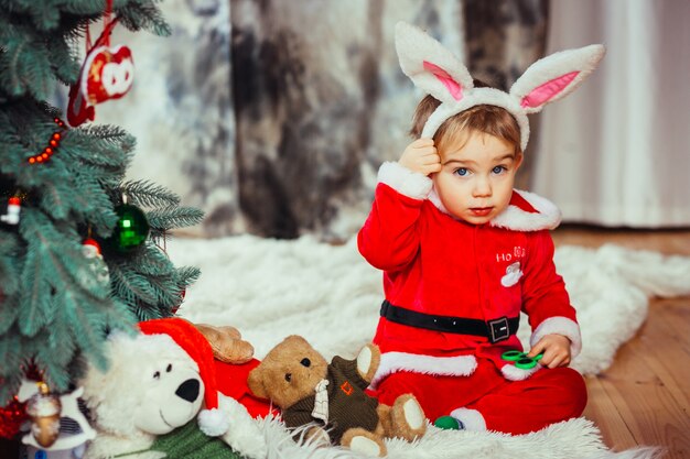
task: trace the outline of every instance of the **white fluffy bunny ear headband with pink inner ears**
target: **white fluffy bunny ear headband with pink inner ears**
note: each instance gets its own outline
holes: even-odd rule
[[[421,29],[405,22],[396,24],[396,51],[402,72],[414,86],[441,101],[429,117],[422,138],[431,138],[445,120],[470,107],[497,106],[511,113],[520,128],[520,147],[529,140],[527,113],[575,90],[604,57],[604,46],[590,45],[561,51],[533,63],[509,92],[475,88],[467,68],[453,53]]]

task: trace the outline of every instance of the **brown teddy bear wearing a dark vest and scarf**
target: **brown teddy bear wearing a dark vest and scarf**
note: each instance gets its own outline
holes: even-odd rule
[[[378,347],[367,345],[357,359],[336,356],[328,364],[304,338],[292,335],[249,373],[248,384],[255,395],[282,409],[289,428],[313,423],[308,438],[385,456],[384,438],[412,441],[424,434],[427,423],[411,394],[387,406],[364,392],[379,362]]]

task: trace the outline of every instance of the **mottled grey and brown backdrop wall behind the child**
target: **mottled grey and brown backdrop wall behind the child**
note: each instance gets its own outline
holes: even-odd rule
[[[339,241],[368,212],[376,172],[410,139],[423,96],[393,28],[425,29],[475,77],[509,85],[543,55],[547,0],[168,0],[169,39],[119,31],[137,75],[96,109],[138,138],[132,179],[201,207],[195,231]]]

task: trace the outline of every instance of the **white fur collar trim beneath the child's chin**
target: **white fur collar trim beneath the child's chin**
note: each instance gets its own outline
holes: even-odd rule
[[[492,220],[492,227],[506,228],[514,231],[540,231],[554,229],[560,225],[561,211],[553,203],[533,193],[519,189],[515,189],[514,193],[525,198],[538,214],[528,212],[510,205]]]

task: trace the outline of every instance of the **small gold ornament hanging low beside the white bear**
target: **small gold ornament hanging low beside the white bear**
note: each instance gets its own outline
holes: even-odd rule
[[[26,402],[26,415],[31,419],[31,433],[44,448],[52,446],[60,435],[62,403],[52,395],[46,383],[36,383],[39,392]]]

